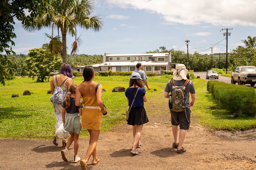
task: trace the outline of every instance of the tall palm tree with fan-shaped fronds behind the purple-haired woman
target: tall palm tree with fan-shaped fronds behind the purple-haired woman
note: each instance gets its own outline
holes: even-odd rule
[[[99,31],[103,27],[103,21],[98,16],[91,16],[94,8],[90,0],[54,0],[46,6],[44,13],[35,19],[36,24],[23,25],[28,31],[40,30],[43,27],[51,27],[52,35],[46,34],[51,39],[48,50],[52,53],[61,53],[62,63],[67,63],[67,34],[75,35],[75,42],[72,43],[72,52],[77,51],[81,42],[77,38],[76,27]],[[62,37],[53,35],[53,30],[59,29]]]

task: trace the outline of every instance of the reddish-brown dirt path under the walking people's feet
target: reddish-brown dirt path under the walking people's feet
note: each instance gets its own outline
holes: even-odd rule
[[[143,127],[143,145],[138,156],[129,153],[133,141],[131,127],[119,125],[100,135],[97,146],[100,162],[96,166],[88,164],[88,170],[256,170],[255,130],[238,133],[210,131],[191,123],[184,142],[187,152],[177,154],[171,148],[170,115],[159,113],[149,119],[150,122]],[[88,140],[80,140],[80,157],[85,157],[87,146]],[[73,146],[68,152],[69,162],[62,160],[62,149],[50,140],[1,139],[0,169],[80,170],[80,164],[71,161]]]

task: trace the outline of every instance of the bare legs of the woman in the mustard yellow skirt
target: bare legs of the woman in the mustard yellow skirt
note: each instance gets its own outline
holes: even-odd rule
[[[93,162],[96,162],[98,160],[96,156],[96,146],[99,138],[99,130],[90,130],[87,129],[89,134],[90,134],[90,141],[89,141],[89,146],[87,148],[86,156],[85,156],[85,163],[87,164],[89,158],[93,156]]]

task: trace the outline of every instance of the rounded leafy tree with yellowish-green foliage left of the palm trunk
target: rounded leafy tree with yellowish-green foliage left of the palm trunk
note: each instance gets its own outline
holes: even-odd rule
[[[37,77],[38,82],[44,82],[49,79],[50,72],[60,70],[61,58],[52,55],[42,48],[29,50],[28,58],[25,59],[28,66],[29,77]]]

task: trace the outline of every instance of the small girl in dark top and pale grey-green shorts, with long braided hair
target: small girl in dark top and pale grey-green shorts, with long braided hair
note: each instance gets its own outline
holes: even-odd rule
[[[61,151],[62,159],[65,162],[68,162],[67,151],[72,142],[74,141],[74,163],[79,162],[81,159],[77,155],[78,152],[78,138],[80,134],[80,115],[82,115],[82,105],[75,106],[75,94],[76,94],[77,85],[71,85],[67,96],[62,105],[62,120],[63,126],[66,131],[71,134],[70,139],[67,142],[67,145],[64,150]],[[81,101],[80,101],[81,102]],[[67,112],[66,119],[65,113]]]

